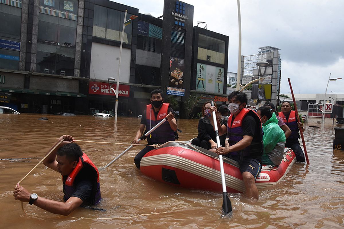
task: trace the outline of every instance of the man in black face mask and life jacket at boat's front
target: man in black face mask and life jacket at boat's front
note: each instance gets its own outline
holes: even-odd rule
[[[146,131],[149,131],[164,118],[167,118],[167,121],[147,137],[148,145],[174,141],[175,131],[177,131],[177,122],[174,118],[173,109],[170,104],[163,102],[163,92],[159,89],[153,90],[151,92],[150,101],[151,104],[147,105],[147,109],[143,111],[141,124],[134,140],[132,140],[132,144],[140,144],[138,140],[142,136],[144,128],[146,127]],[[140,162],[143,156],[153,149],[154,147],[152,146],[146,146],[136,155],[134,162],[138,169],[140,168]]]

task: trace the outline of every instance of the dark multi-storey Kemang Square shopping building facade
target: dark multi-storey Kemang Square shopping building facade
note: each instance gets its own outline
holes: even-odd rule
[[[126,20],[138,18],[125,24],[119,59],[126,10]],[[192,93],[224,96],[228,37],[193,27],[193,6],[184,2],[165,0],[163,14],[108,0],[0,0],[0,105],[113,113],[110,77],[119,81],[119,115],[141,114],[155,88],[180,110]],[[197,65],[213,77],[202,81],[204,91]]]

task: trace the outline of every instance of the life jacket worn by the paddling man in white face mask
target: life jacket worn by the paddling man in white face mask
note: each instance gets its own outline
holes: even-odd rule
[[[260,129],[259,133],[260,136],[258,139],[259,141],[253,141],[251,142],[251,145],[246,147],[245,149],[241,151],[235,151],[235,152],[230,152],[232,156],[240,156],[240,161],[243,160],[244,157],[259,157],[263,153],[263,148],[262,148],[262,131],[261,131],[261,122],[259,116],[256,114],[256,112],[248,110],[246,108],[243,108],[236,117],[233,120],[234,117],[233,114],[230,114],[228,117],[228,123],[227,123],[227,137],[229,141],[229,145],[232,146],[239,142],[241,139],[243,139],[243,128],[241,127],[243,124],[243,120],[246,115],[250,114],[254,119],[256,120],[256,129]],[[255,131],[256,132],[256,131]],[[257,132],[256,132],[257,133]],[[255,139],[257,139],[255,137]]]

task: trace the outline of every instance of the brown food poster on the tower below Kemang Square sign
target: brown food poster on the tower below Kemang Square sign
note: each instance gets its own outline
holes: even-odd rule
[[[170,82],[169,86],[174,88],[183,88],[184,82],[184,60],[170,58]]]

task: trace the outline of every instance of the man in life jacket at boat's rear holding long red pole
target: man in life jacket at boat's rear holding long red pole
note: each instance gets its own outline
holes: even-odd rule
[[[292,148],[297,161],[305,162],[303,151],[300,147],[299,142],[299,127],[302,129],[302,132],[305,130],[301,122],[297,122],[296,112],[291,110],[290,102],[283,102],[281,107],[281,112],[278,113],[283,119],[283,122],[287,124],[291,130],[291,135],[286,140],[286,147]]]

